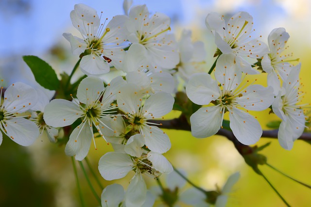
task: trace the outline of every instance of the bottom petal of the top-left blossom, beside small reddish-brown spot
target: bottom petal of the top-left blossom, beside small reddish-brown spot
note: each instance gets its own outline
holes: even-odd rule
[[[100,75],[110,71],[108,63],[104,58],[94,54],[83,56],[80,62],[80,68],[86,75]]]

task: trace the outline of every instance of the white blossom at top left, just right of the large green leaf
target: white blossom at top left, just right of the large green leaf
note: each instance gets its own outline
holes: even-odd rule
[[[122,43],[126,40],[123,24],[127,16],[114,16],[104,28],[96,10],[80,3],[74,6],[70,18],[83,39],[70,33],[63,36],[70,42],[72,53],[82,57],[80,67],[86,75],[108,73],[108,63],[121,67],[125,55]]]

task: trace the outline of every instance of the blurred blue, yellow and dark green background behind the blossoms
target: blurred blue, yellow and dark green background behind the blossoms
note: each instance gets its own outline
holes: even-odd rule
[[[59,72],[70,72],[77,61],[71,55],[69,43],[62,37],[63,32],[76,32],[71,26],[69,12],[73,5],[84,2],[106,12],[107,17],[122,14],[122,1],[38,1],[38,0],[1,0],[0,1],[0,72],[10,81],[32,81],[26,72],[28,68],[21,61],[22,55],[38,55]],[[162,3],[161,3],[162,2]],[[163,12],[171,16],[173,32],[177,39],[182,29],[192,30],[193,40],[204,41],[207,48],[208,67],[213,63],[215,45],[212,36],[205,28],[205,17],[209,12],[232,15],[238,11],[247,11],[254,16],[254,36],[262,35],[266,42],[269,32],[276,27],[284,27],[291,35],[288,45],[294,53],[293,59],[300,58],[302,63],[302,90],[306,92],[304,103],[311,102],[310,53],[311,53],[311,2],[309,0],[173,0],[173,1],[134,0],[134,4],[146,3],[151,12]],[[164,3],[165,2],[165,3]],[[5,75],[3,75],[5,74]],[[8,75],[9,74],[9,75]],[[265,75],[258,77],[265,84]],[[7,80],[9,82],[9,80]],[[309,106],[310,107],[310,106]],[[310,108],[307,111],[310,111]],[[252,113],[256,114],[256,113]],[[177,117],[172,112],[167,118]],[[262,127],[271,120],[278,120],[268,111],[260,113]],[[227,177],[234,172],[241,172],[241,178],[229,196],[228,207],[283,207],[282,201],[272,191],[262,177],[248,167],[233,144],[221,136],[206,139],[193,138],[188,131],[165,130],[169,135],[172,148],[165,156],[177,168],[184,169],[197,185],[207,190],[214,190],[215,185],[223,186]],[[111,146],[103,140],[96,140],[98,150],[91,146],[88,159],[97,172],[98,161]],[[282,149],[276,139],[262,138],[257,145],[271,142],[261,153],[268,162],[284,173],[311,184],[311,146],[303,141],[296,141],[291,151]],[[77,163],[78,165],[78,163]],[[276,189],[293,207],[311,205],[311,190],[278,174],[271,168],[260,166]],[[89,172],[89,171],[88,171]],[[89,190],[81,169],[78,166],[84,198],[87,206],[98,206]],[[98,176],[104,186],[112,184]],[[125,188],[128,176],[117,183]],[[161,178],[164,183],[164,178]],[[148,179],[150,187],[155,186],[153,179]],[[91,177],[98,194],[100,189]],[[186,188],[189,185],[186,186]],[[186,189],[185,188],[185,189]],[[76,207],[79,197],[75,185],[71,159],[64,154],[64,145],[49,143],[47,138],[40,138],[30,147],[22,147],[9,139],[3,139],[0,145],[0,206],[24,207]]]

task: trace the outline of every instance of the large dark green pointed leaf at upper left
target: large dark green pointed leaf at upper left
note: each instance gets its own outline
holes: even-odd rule
[[[42,87],[49,90],[57,90],[59,88],[59,80],[49,64],[33,55],[23,56],[23,60],[30,67],[35,80]]]

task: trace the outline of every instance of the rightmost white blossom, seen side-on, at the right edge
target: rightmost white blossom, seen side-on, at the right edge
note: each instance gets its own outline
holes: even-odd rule
[[[302,105],[298,104],[302,96],[299,92],[300,67],[301,64],[293,67],[272,104],[273,111],[282,119],[277,133],[278,142],[287,150],[293,148],[294,141],[303,133],[306,122]]]

